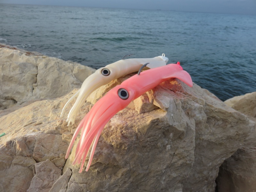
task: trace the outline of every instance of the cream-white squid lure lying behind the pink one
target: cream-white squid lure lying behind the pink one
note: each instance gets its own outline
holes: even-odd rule
[[[106,67],[99,68],[95,71],[92,75],[87,77],[84,80],[84,83],[81,86],[81,89],[77,91],[66,103],[64,106],[62,113],[60,117],[63,116],[64,110],[67,107],[68,103],[70,103],[77,95],[76,102],[72,106],[72,108],[69,111],[67,122],[69,124],[73,124],[76,119],[76,115],[79,111],[79,109],[84,104],[87,97],[96,89],[101,87],[102,85],[108,84],[110,81],[117,79],[119,77],[125,76],[129,73],[133,73],[136,71],[139,71],[140,67],[144,65],[145,63],[149,63],[147,65],[147,68],[156,68],[160,66],[166,65],[168,62],[168,58],[165,57],[164,53],[162,56],[154,57],[154,58],[148,58],[148,59],[125,59],[125,60],[119,60],[115,63],[111,63],[107,65]],[[108,69],[109,75],[103,75],[102,70]]]

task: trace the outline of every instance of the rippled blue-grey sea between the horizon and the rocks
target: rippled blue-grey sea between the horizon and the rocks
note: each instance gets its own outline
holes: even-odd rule
[[[256,91],[256,15],[0,4],[0,43],[96,69],[165,53],[221,100]]]

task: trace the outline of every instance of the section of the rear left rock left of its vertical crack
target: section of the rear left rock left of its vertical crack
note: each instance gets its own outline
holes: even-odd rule
[[[10,60],[10,57],[14,57],[14,53],[20,56],[19,51],[13,51],[9,49],[0,48],[0,109],[12,106],[17,102],[25,102],[32,97],[33,86],[36,82],[36,64],[23,61],[15,62]],[[5,58],[3,55],[7,55]],[[15,58],[15,59],[19,59]],[[26,74],[26,75],[24,75]]]

